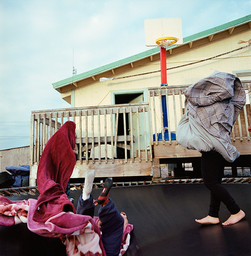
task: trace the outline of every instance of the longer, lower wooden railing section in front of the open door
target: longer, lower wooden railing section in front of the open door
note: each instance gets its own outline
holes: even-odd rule
[[[152,161],[149,114],[148,103],[32,111],[30,165],[39,162],[46,142],[68,120],[76,123],[80,163],[113,162],[118,148],[125,162]]]

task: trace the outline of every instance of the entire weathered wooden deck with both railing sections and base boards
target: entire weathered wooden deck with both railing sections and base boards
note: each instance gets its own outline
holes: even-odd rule
[[[241,154],[251,155],[248,132],[251,125],[251,82],[243,82],[243,85],[249,100],[232,129],[231,137]],[[183,91],[188,86],[148,88],[148,103],[32,111],[30,185],[35,185],[39,159],[46,142],[67,120],[76,123],[78,161],[72,178],[84,177],[85,172],[93,168],[97,170],[97,177],[160,177],[160,159],[200,157],[199,152],[185,149],[175,138],[178,122],[184,113]],[[167,106],[164,117],[163,99]]]

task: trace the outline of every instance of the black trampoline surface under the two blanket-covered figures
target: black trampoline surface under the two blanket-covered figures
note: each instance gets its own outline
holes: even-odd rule
[[[251,186],[223,184],[246,217],[231,226],[205,225],[194,221],[208,214],[210,192],[202,183],[175,183],[113,187],[110,197],[133,224],[130,246],[125,256],[209,256],[251,255]],[[93,189],[94,198],[102,188]],[[76,207],[82,190],[71,191]],[[11,196],[23,200],[37,196]],[[97,207],[95,215],[97,216]],[[229,212],[221,204],[221,223]],[[0,256],[65,256],[59,239],[32,233],[27,224],[0,226]]]

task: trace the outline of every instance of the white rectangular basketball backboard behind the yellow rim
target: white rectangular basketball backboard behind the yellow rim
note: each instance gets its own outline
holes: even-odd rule
[[[175,44],[182,44],[181,18],[145,19],[146,46],[157,46],[158,38],[171,36],[178,38]]]

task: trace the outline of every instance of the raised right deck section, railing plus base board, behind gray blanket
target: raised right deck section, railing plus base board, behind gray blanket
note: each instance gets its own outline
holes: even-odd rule
[[[243,107],[231,132],[232,142],[241,154],[251,154],[251,81],[244,81],[246,105]],[[200,156],[196,150],[186,150],[176,141],[178,122],[184,114],[184,90],[189,85],[162,86],[148,88],[148,101],[151,112],[151,135],[155,158],[179,158]],[[163,105],[164,103],[164,105]],[[162,109],[166,106],[166,113]],[[164,114],[163,114],[164,113]],[[164,117],[163,117],[164,116]],[[165,122],[166,118],[166,122]],[[240,143],[241,142],[241,143]]]

